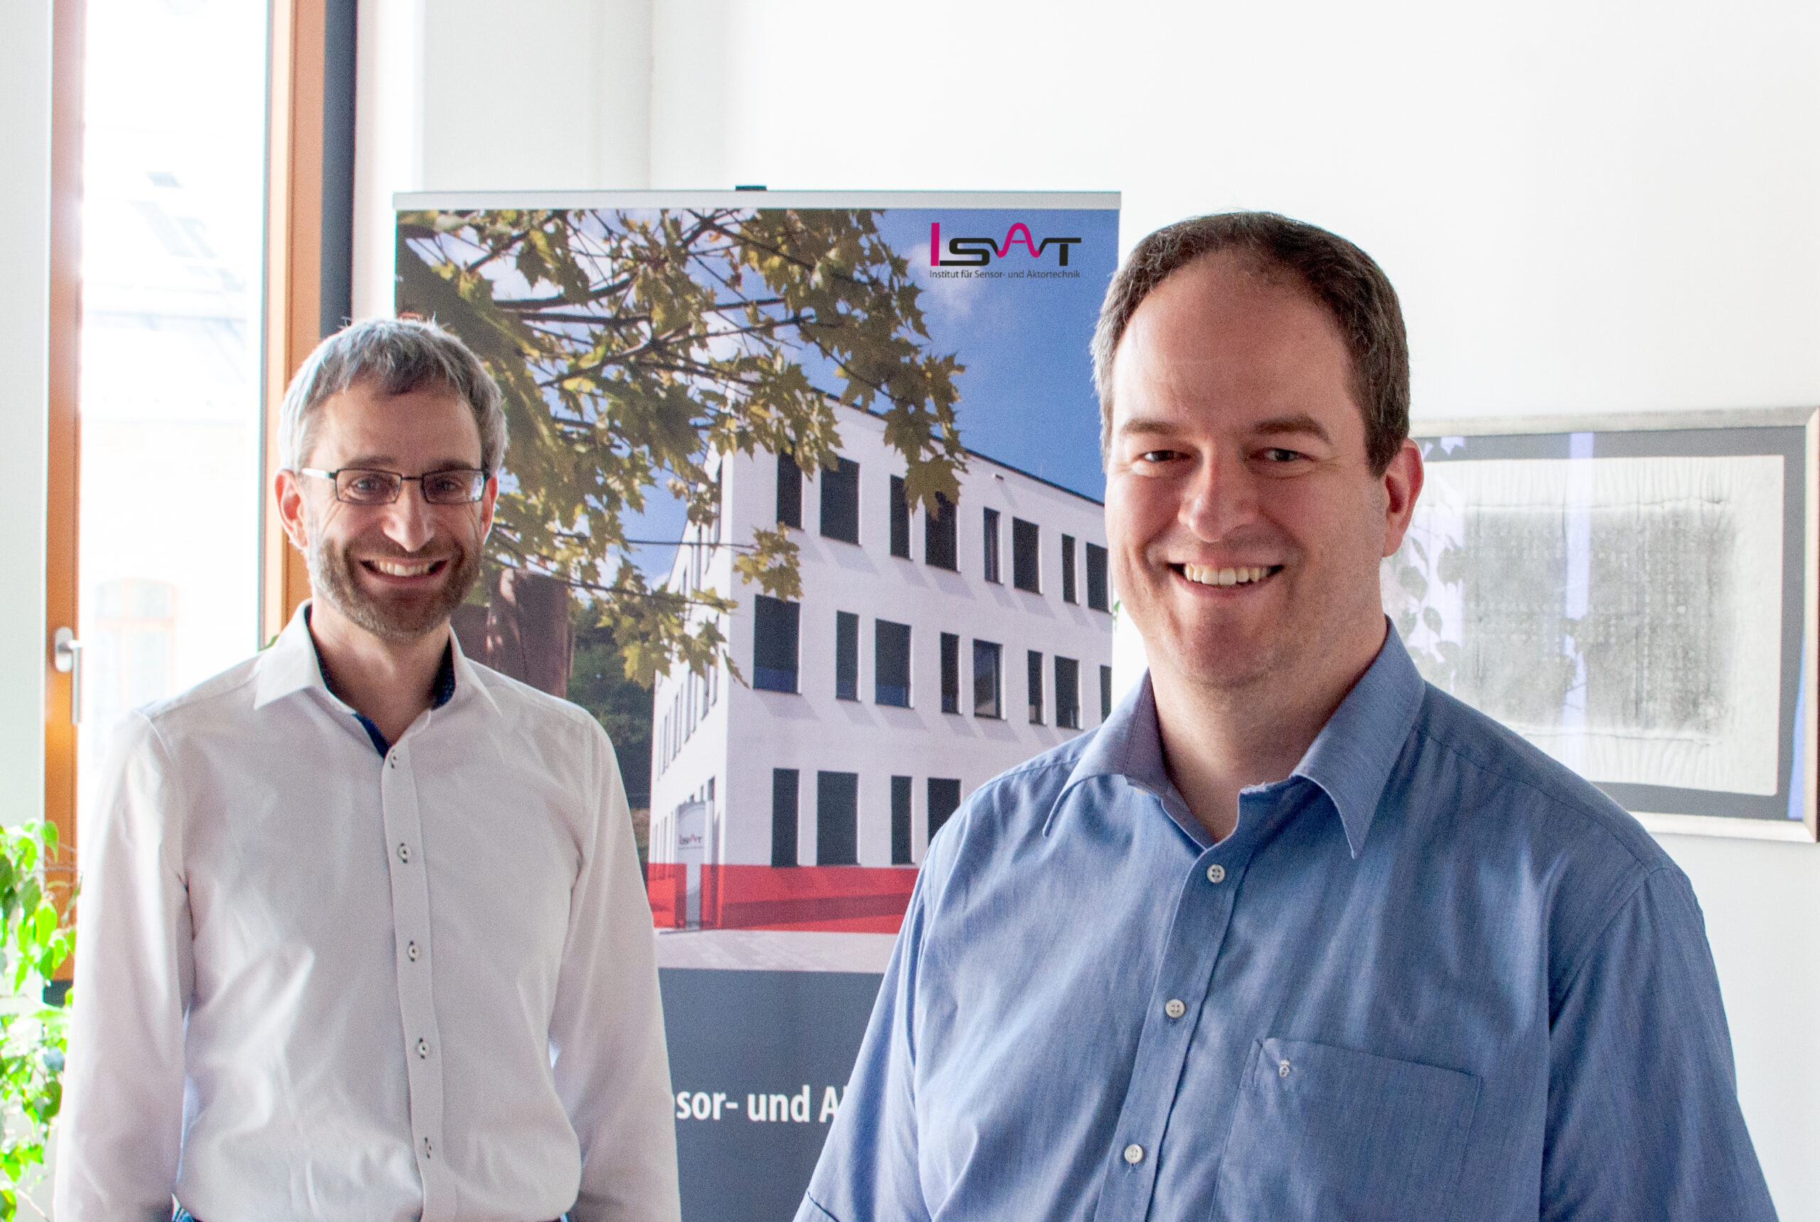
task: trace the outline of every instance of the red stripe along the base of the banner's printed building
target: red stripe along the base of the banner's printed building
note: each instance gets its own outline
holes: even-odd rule
[[[797,929],[895,934],[910,907],[914,869],[864,865],[704,865],[703,929]],[[688,867],[650,865],[646,885],[659,929],[686,925]]]

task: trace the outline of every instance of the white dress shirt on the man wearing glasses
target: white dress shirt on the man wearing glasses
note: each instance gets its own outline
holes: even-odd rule
[[[116,734],[80,829],[60,1222],[679,1217],[613,748],[470,663],[384,758],[298,610]]]

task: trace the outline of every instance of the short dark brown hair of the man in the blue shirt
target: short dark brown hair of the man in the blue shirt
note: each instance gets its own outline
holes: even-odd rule
[[[1236,249],[1261,271],[1292,275],[1334,317],[1352,355],[1352,399],[1365,417],[1365,457],[1381,475],[1409,437],[1409,339],[1383,268],[1352,242],[1269,211],[1194,217],[1148,235],[1112,277],[1094,330],[1099,448],[1112,443],[1112,359],[1138,306],[1205,255]]]

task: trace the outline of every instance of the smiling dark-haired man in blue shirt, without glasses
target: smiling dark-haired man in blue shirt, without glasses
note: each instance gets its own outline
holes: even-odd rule
[[[1773,1218],[1685,876],[1380,610],[1383,271],[1188,220],[1094,355],[1150,674],[930,845],[799,1222]]]

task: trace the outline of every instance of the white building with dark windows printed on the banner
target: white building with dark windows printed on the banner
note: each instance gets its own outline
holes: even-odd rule
[[[750,687],[659,679],[652,861],[915,865],[966,794],[1105,718],[1101,504],[974,453],[956,504],[910,510],[881,419],[843,410],[841,443],[835,472],[728,459],[719,537],[677,550],[672,588],[739,599],[723,632]],[[724,546],[779,521],[797,601]]]

